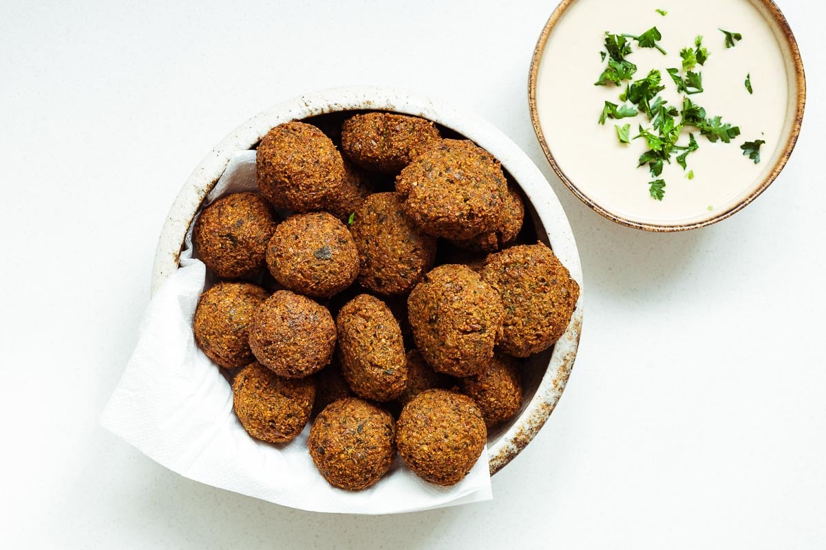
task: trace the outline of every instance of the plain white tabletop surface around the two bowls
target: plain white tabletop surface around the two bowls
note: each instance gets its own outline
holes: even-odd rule
[[[809,81],[786,171],[733,219],[673,235],[610,223],[551,175],[527,73],[554,2],[446,3],[0,0],[0,546],[826,546],[820,2],[779,2]],[[494,501],[288,510],[179,477],[97,425],[189,172],[259,110],[344,84],[487,117],[577,235],[577,365]]]

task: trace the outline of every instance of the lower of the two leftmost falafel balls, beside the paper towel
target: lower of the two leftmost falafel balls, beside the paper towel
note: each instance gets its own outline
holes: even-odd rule
[[[218,283],[201,294],[192,333],[201,350],[226,369],[254,361],[249,323],[268,293],[250,283]]]

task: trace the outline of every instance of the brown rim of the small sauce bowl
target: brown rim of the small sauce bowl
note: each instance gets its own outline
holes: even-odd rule
[[[786,162],[788,162],[791,153],[795,150],[795,144],[800,136],[800,126],[803,123],[803,115],[806,104],[806,76],[803,68],[803,59],[800,58],[800,48],[797,45],[797,40],[795,40],[794,33],[791,31],[789,22],[786,21],[786,16],[783,15],[783,12],[781,12],[781,9],[777,7],[775,2],[772,0],[749,0],[749,2],[751,2],[752,5],[756,5],[758,9],[762,7],[762,13],[768,13],[768,15],[771,16],[771,23],[776,25],[776,31],[779,31],[784,39],[781,41],[779,37],[777,37],[776,32],[775,35],[778,38],[778,43],[780,43],[781,49],[784,49],[784,47],[787,49],[793,65],[792,70],[794,71],[793,76],[795,86],[794,90],[792,90],[792,86],[790,86],[790,92],[795,92],[795,94],[790,93],[789,101],[794,101],[795,103],[794,115],[791,120],[789,137],[786,139],[786,143],[783,145],[780,155],[777,157],[774,166],[771,167],[771,171],[768,172],[763,181],[754,190],[752,190],[748,196],[737,204],[734,204],[731,208],[721,211],[719,214],[715,214],[709,219],[702,219],[692,223],[663,224],[645,223],[627,219],[619,214],[611,212],[609,209],[601,206],[600,204],[597,204],[594,200],[591,200],[590,197],[585,195],[585,193],[583,193],[582,190],[580,190],[577,185],[570,178],[568,178],[562,168],[559,167],[556,158],[553,157],[553,153],[551,153],[551,150],[548,147],[548,142],[545,139],[542,126],[539,124],[539,110],[536,101],[536,84],[537,77],[539,75],[539,63],[542,60],[545,45],[548,42],[548,37],[550,36],[551,31],[553,31],[553,28],[557,25],[559,20],[562,19],[565,12],[567,12],[567,8],[576,1],[577,0],[562,0],[559,2],[556,9],[554,9],[548,17],[548,21],[546,21],[545,26],[539,35],[539,40],[537,40],[536,46],[534,47],[534,55],[531,58],[528,73],[528,106],[530,110],[530,120],[534,126],[534,132],[536,133],[537,139],[539,139],[539,145],[542,147],[545,157],[548,158],[548,162],[553,168],[553,172],[556,172],[559,179],[563,181],[565,186],[567,186],[567,188],[571,190],[571,192],[576,195],[579,200],[582,200],[583,203],[595,210],[596,213],[601,214],[603,217],[610,219],[612,222],[619,223],[620,225],[634,229],[643,229],[644,231],[650,231],[653,233],[673,233],[704,228],[714,223],[721,222],[724,219],[737,214],[740,210],[748,206],[748,204],[751,204],[753,200],[757,199],[758,196],[762,195],[763,191],[767,190],[768,187],[771,186],[771,183],[776,180],[783,168],[786,167]],[[786,58],[785,54],[784,58]]]

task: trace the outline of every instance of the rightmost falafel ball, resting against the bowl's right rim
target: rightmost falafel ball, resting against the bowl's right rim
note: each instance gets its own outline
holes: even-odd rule
[[[482,280],[505,306],[499,347],[527,357],[547,350],[565,333],[579,299],[579,284],[541,242],[487,256]]]

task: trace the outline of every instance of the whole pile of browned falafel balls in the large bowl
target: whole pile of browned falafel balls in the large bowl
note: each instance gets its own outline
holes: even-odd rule
[[[286,444],[314,419],[309,452],[334,487],[372,486],[396,450],[453,485],[520,411],[520,358],[563,335],[579,286],[541,242],[515,244],[520,193],[476,144],[384,112],[325,130],[271,129],[260,193],[196,219],[219,279],[197,346],[234,375],[252,437]]]

